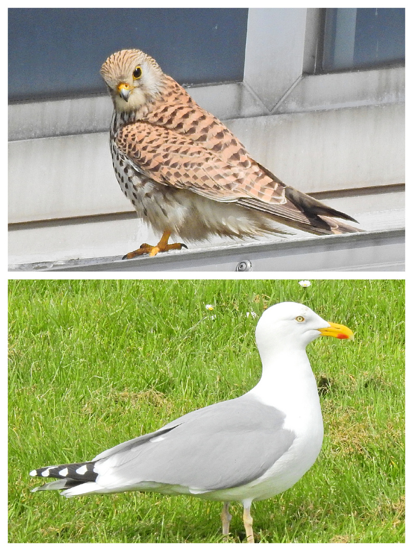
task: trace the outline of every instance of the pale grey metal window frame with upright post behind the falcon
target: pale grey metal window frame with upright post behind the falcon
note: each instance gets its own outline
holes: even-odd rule
[[[324,10],[250,8],[243,82],[186,87],[189,94],[222,120],[404,101],[404,66],[318,72]],[[283,19],[286,12],[290,13]],[[275,29],[265,35],[268,40],[262,40],[263,25]],[[285,56],[297,26],[302,36],[290,56]],[[284,42],[277,49],[280,29],[284,29]],[[268,55],[270,48],[275,48],[275,55]],[[267,77],[274,73],[280,75],[278,87]],[[9,141],[104,132],[111,112],[107,94],[13,102]]]

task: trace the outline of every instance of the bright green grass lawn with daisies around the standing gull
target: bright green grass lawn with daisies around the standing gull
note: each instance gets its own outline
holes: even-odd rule
[[[296,280],[11,280],[9,542],[221,541],[220,503],[32,494],[39,479],[29,472],[90,460],[248,391],[260,361],[257,320],[246,313],[282,300],[305,302],[356,339],[307,348],[322,387],[322,452],[293,488],[253,505],[257,540],[403,542],[403,280],[312,280],[307,289]],[[241,505],[231,512],[240,542]]]

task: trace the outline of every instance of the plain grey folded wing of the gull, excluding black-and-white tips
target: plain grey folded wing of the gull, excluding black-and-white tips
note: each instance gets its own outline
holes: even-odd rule
[[[237,487],[289,449],[295,435],[283,423],[282,412],[248,395],[213,404],[101,453],[96,482],[114,490],[140,482],[200,491]]]

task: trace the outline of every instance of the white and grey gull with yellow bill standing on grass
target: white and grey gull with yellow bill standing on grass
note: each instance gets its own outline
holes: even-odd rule
[[[306,347],[317,337],[354,339],[344,325],[296,302],[260,317],[256,342],[262,377],[249,392],[182,415],[153,433],[99,453],[93,460],[35,469],[57,478],[31,491],[82,494],[151,491],[222,501],[222,534],[230,533],[231,501],[243,505],[247,543],[254,543],[251,504],[294,485],[323,442],[317,383]]]

